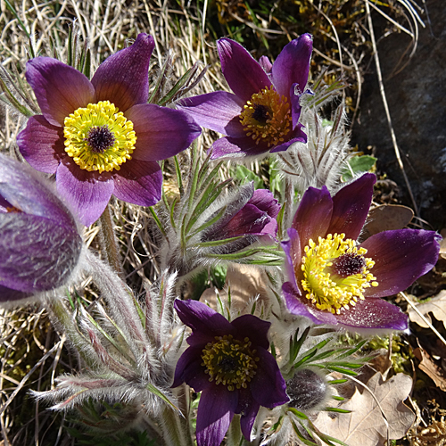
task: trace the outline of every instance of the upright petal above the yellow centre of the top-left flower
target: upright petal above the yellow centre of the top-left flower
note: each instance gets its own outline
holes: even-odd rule
[[[91,79],[96,102],[110,101],[120,111],[127,111],[136,103],[146,103],[149,62],[154,46],[153,37],[141,33],[133,45],[111,54]]]

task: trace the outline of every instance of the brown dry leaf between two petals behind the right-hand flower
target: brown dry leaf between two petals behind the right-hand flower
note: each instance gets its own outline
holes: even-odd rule
[[[378,232],[402,229],[409,225],[414,212],[400,204],[383,204],[376,206],[368,213],[368,222],[363,229],[362,235],[368,238]]]

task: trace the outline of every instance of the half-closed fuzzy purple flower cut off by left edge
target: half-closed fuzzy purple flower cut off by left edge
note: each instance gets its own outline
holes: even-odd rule
[[[63,285],[81,249],[76,222],[45,179],[0,155],[0,302]]]

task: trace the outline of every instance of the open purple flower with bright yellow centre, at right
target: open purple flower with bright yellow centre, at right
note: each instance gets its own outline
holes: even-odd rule
[[[405,290],[434,267],[440,236],[401,229],[356,243],[376,177],[366,174],[331,197],[310,187],[282,243],[289,282],[285,301],[293,314],[352,331],[405,330],[408,318],[380,297]]]

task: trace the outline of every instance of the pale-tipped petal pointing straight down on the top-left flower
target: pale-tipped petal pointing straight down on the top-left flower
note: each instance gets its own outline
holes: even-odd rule
[[[70,209],[85,226],[101,217],[114,188],[109,174],[100,175],[80,169],[70,157],[66,157],[58,167],[56,185],[59,194],[70,203]]]

